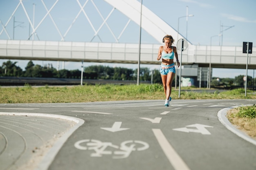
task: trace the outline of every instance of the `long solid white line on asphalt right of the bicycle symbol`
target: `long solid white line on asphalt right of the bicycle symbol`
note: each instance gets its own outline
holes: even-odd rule
[[[177,152],[173,149],[171,144],[167,141],[166,137],[162,133],[161,129],[152,129],[155,137],[166,157],[172,164],[175,170],[190,170],[186,163],[181,159]]]

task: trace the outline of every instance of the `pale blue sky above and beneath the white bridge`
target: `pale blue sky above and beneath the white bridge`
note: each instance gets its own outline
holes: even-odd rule
[[[35,5],[35,26],[39,24],[44,15],[47,13],[41,0],[23,0],[22,1],[29,17],[33,20],[33,3]],[[48,9],[52,7],[55,0],[43,0]],[[79,0],[83,5],[86,0]],[[93,3],[96,4],[101,15],[104,18],[108,16],[112,10],[112,6],[106,3],[104,0],[88,1],[85,6],[85,12],[90,19],[90,22],[97,30],[102,19],[95,10]],[[139,1],[140,2],[140,1]],[[19,0],[1,0],[0,1],[0,20],[2,24],[6,24],[14,9],[17,7]],[[192,44],[209,45],[210,38],[213,35],[220,34],[220,29],[223,30],[223,46],[242,46],[244,41],[256,43],[256,0],[143,0],[143,4],[158,15],[162,20],[171,25],[177,30],[178,18],[186,15],[188,7],[189,14],[193,14],[193,17],[188,18],[187,26],[187,38]],[[61,36],[65,34],[68,27],[71,25],[75,16],[79,12],[80,7],[76,0],[59,0],[58,3],[51,11],[52,18],[58,29],[54,26],[51,18],[47,16],[42,24],[38,27],[37,35],[40,40],[54,40],[60,41]],[[15,16],[15,39],[27,40],[29,35],[29,22],[26,18],[25,12],[22,7],[18,7]],[[20,22],[22,27],[18,26]],[[65,36],[65,41],[91,41],[94,35],[93,29],[90,26],[90,22],[86,19],[85,15],[81,13],[77,18],[70,31]],[[111,30],[118,35],[128,22],[128,18],[121,12],[115,10],[107,23]],[[179,20],[179,32],[186,36],[186,18],[180,18]],[[222,25],[222,26],[221,26]],[[234,27],[231,27],[234,26]],[[231,28],[229,28],[231,27]],[[228,29],[229,28],[229,29]],[[9,35],[13,38],[13,18],[10,20],[6,27]],[[1,29],[2,30],[2,25]],[[31,32],[31,30],[30,30]],[[115,42],[115,38],[111,35],[106,25],[99,31],[99,36],[103,42]],[[8,39],[6,33],[0,35],[0,39]],[[31,37],[32,39],[32,37]],[[34,40],[38,40],[34,35]],[[99,37],[93,38],[92,42],[99,42]],[[133,22],[130,22],[127,29],[124,31],[120,38],[121,43],[138,43],[139,42],[139,26]],[[142,31],[141,43],[157,43],[148,33]],[[157,43],[158,44],[158,43]],[[219,45],[219,37],[212,38],[212,45]],[[254,45],[255,46],[255,45]],[[254,53],[254,51],[253,51]],[[0,64],[6,60],[0,60]],[[18,64],[21,68],[25,68],[26,61],[18,60]],[[57,68],[57,62],[48,61],[33,61],[34,64],[48,64],[52,63]],[[92,64],[102,63],[85,63],[84,66]],[[121,66],[127,68],[137,68],[137,64],[106,64],[108,66]],[[149,65],[142,65],[141,67],[149,67]],[[151,68],[159,68],[159,66],[150,66]],[[60,69],[62,68],[62,62],[60,62]],[[81,63],[79,62],[65,62],[66,69],[80,69]],[[223,74],[225,73],[225,74]],[[230,77],[234,78],[238,75],[245,75],[245,69],[221,69],[213,68],[213,77]],[[248,71],[248,75],[253,76],[253,70]]]

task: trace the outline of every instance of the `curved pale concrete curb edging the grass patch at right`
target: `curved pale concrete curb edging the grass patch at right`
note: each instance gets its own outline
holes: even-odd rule
[[[252,106],[252,104],[232,106],[232,107],[229,107],[229,108],[223,108],[220,111],[218,111],[218,119],[228,130],[230,130],[234,134],[238,135],[239,137],[243,138],[244,140],[250,142],[251,144],[256,145],[256,140],[255,139],[248,136],[246,133],[238,130],[235,126],[233,126],[230,123],[230,121],[226,117],[228,110],[233,109],[233,108],[237,108],[237,107],[243,107],[243,106]]]

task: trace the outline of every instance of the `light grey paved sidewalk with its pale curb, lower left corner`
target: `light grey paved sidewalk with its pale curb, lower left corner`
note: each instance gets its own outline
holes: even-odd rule
[[[52,150],[83,123],[63,115],[0,112],[0,170],[47,169],[57,154]]]

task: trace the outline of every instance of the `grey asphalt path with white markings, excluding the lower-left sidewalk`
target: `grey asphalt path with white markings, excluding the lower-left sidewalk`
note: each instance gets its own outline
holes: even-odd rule
[[[55,157],[48,153],[38,163],[40,170],[256,169],[256,145],[238,136],[243,133],[231,132],[218,117],[224,108],[256,104],[255,99],[170,104],[165,107],[164,100],[0,104],[0,112],[66,115],[84,121],[63,146],[50,150]]]

